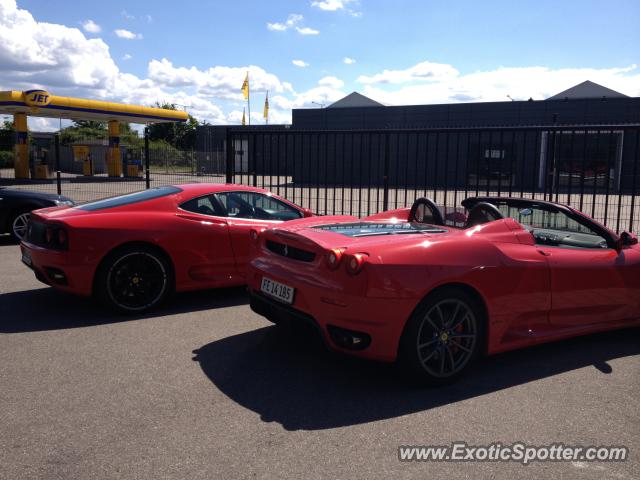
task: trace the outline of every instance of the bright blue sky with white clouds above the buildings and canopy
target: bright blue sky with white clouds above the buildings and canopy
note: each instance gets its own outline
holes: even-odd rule
[[[55,5],[55,8],[52,7]],[[352,91],[386,105],[640,96],[640,1],[0,0],[0,90],[289,123]],[[31,118],[30,128],[58,121]]]

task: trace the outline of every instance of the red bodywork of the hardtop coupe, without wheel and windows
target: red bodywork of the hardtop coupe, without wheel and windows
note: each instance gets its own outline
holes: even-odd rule
[[[218,192],[257,192],[272,196],[301,213],[309,213],[268,191],[230,184],[178,185],[181,191],[139,203],[86,211],[56,207],[37,210],[32,219],[63,226],[68,249],[52,250],[23,241],[31,267],[52,286],[79,295],[91,295],[96,270],[105,256],[128,243],[161,248],[171,259],[176,291],[199,290],[245,283],[249,230],[282,223],[277,220],[234,219],[182,210],[184,202]],[[82,207],[82,205],[79,205]],[[47,278],[47,268],[58,268],[66,285]]]

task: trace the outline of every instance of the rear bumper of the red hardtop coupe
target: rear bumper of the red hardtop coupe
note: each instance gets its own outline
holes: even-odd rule
[[[22,263],[41,282],[75,295],[91,295],[95,266],[83,254],[49,250],[27,242],[20,244],[20,251]]]

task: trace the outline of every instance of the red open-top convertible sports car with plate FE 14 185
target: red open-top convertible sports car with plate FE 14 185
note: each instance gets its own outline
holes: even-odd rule
[[[580,212],[468,198],[449,226],[427,199],[254,237],[252,309],[308,322],[342,352],[445,383],[481,354],[640,325],[640,246]]]

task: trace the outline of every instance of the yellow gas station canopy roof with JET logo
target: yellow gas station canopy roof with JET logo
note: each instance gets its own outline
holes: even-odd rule
[[[45,90],[0,92],[0,114],[122,123],[185,122],[188,114],[177,110],[124,103],[58,97]]]

